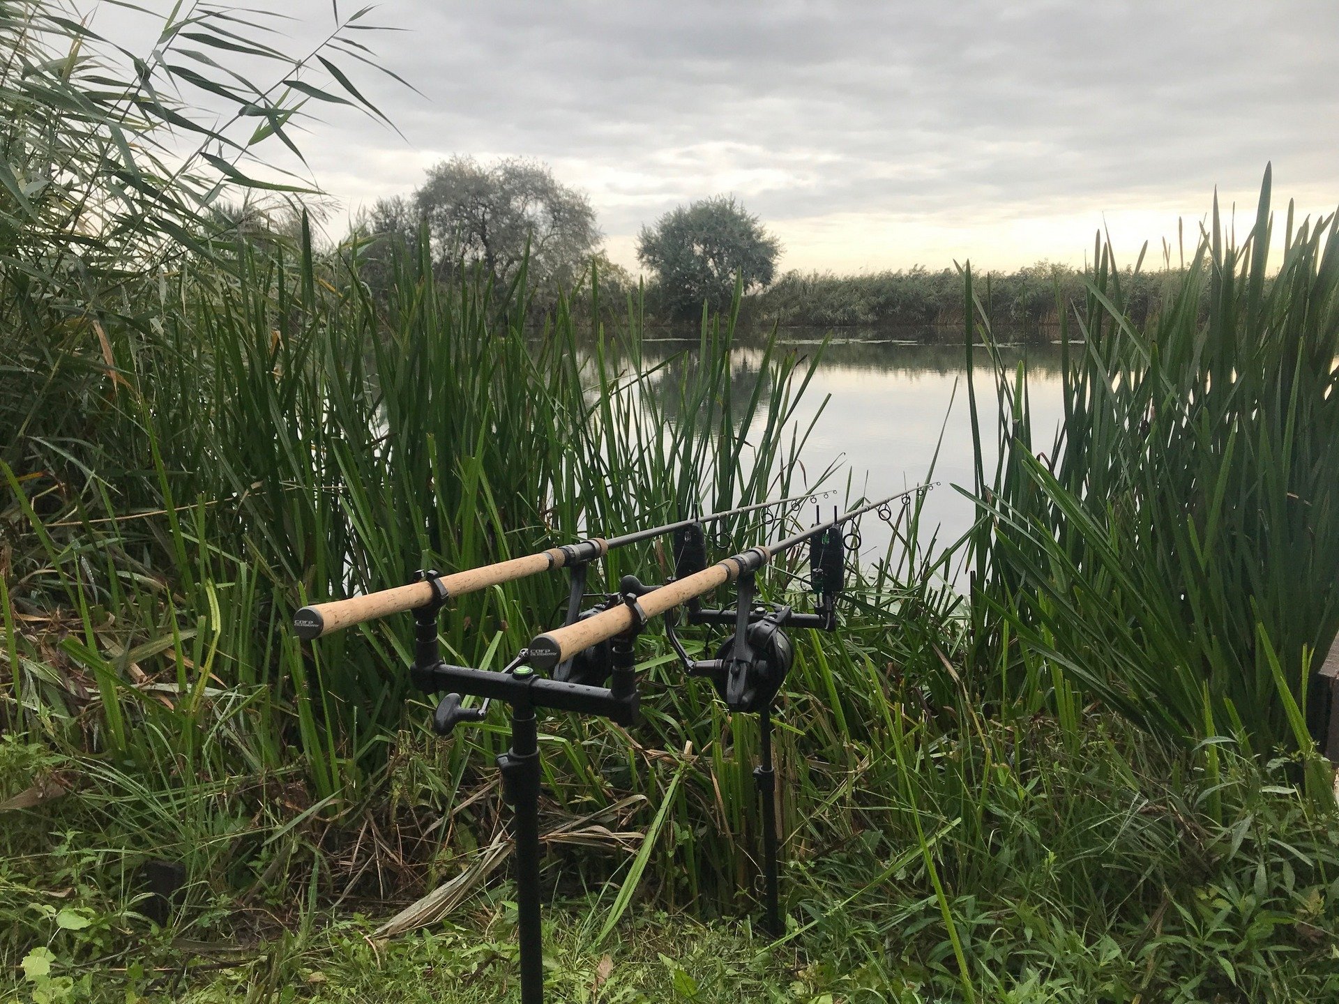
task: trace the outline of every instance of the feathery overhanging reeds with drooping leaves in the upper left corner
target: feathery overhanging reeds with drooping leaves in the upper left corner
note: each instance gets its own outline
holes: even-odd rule
[[[236,281],[229,203],[277,209],[316,194],[266,166],[277,146],[297,150],[309,103],[380,116],[353,82],[376,66],[359,32],[367,11],[336,7],[324,39],[293,56],[281,20],[261,11],[108,5],[157,28],[147,52],[108,41],[62,0],[0,8],[0,459],[11,466],[87,463],[78,423],[99,420],[96,399],[115,390],[108,325],[153,352],[155,319],[173,312],[187,272]],[[245,74],[228,66],[238,56]]]

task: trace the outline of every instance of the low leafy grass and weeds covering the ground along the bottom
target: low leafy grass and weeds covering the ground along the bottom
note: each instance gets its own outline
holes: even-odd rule
[[[789,792],[809,809],[787,842],[791,922],[777,945],[753,932],[744,905],[706,925],[695,918],[702,901],[657,910],[663,894],[645,896],[653,880],[601,940],[616,886],[582,890],[580,857],[550,843],[556,999],[1291,1001],[1339,988],[1339,819],[1289,784],[1287,760],[1218,743],[1210,775],[1202,750],[1101,715],[1085,716],[1079,738],[1028,719],[983,719],[953,735],[919,704],[885,696],[894,734],[853,738],[862,755],[841,776]],[[60,846],[7,855],[15,913],[32,914],[24,929],[40,928],[54,979],[87,999],[516,999],[505,873],[446,918],[391,940],[378,937],[390,912],[380,897],[339,896],[311,871],[274,870],[241,897],[197,889],[159,929],[111,846],[130,819],[90,818],[91,788],[46,809],[67,834]],[[549,825],[562,817],[550,803]],[[367,839],[376,833],[387,846],[371,867],[391,870],[403,834],[378,825]],[[339,855],[321,859],[344,885]],[[661,875],[674,863],[663,858]],[[62,910],[87,926],[60,926]]]

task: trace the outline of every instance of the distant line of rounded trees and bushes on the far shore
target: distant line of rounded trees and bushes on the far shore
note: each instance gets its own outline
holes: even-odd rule
[[[743,317],[763,325],[924,328],[960,324],[964,313],[956,269],[778,277],[781,242],[730,195],[676,206],[643,226],[637,260],[647,278],[639,280],[605,256],[589,197],[524,158],[443,161],[408,195],[376,202],[355,230],[362,274],[374,290],[388,285],[396,246],[427,240],[443,281],[466,270],[510,285],[524,266],[536,311],[597,276],[605,303],[635,295],[647,321],[660,325],[694,323],[704,307],[727,309],[736,286]],[[1127,272],[1123,284],[1142,321],[1161,301],[1166,273]],[[1059,308],[1087,296],[1082,270],[1046,261],[980,274],[975,293],[994,324],[1036,335],[1058,321]]]

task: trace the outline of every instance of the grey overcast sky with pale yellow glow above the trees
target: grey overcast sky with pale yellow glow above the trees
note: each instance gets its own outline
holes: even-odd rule
[[[329,0],[270,9],[295,51],[332,25]],[[589,193],[621,264],[641,224],[732,193],[783,268],[853,272],[1082,262],[1103,225],[1133,258],[1178,217],[1194,233],[1214,186],[1245,229],[1267,161],[1276,197],[1339,202],[1339,0],[387,0],[368,20],[402,29],[359,40],[422,96],[364,72],[404,138],[311,127],[344,214],[453,154],[520,154]]]

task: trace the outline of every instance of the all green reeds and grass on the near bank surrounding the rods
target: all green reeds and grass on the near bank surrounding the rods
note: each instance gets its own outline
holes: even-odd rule
[[[794,463],[815,353],[750,341],[740,378],[736,301],[651,363],[643,311],[603,288],[536,337],[525,260],[445,280],[424,241],[374,292],[366,244],[321,249],[301,214],[244,233],[218,193],[273,183],[213,151],[283,142],[312,90],[359,102],[344,71],[270,50],[280,83],[252,92],[197,60],[228,131],[151,95],[190,84],[183,37],[266,55],[244,12],[169,21],[150,94],[63,11],[0,8],[0,996],[514,1001],[505,727],[431,734],[410,618],[304,644],[292,616],[694,505],[849,494]],[[182,120],[208,139],[167,167]],[[791,636],[783,938],[751,920],[757,724],[680,679],[663,628],[641,727],[542,722],[554,1000],[1339,997],[1335,775],[1308,728],[1339,632],[1339,240],[1289,207],[1271,262],[1272,205],[1267,171],[1243,242],[1214,210],[1146,313],[1098,244],[1056,305],[1044,442],[995,284],[959,277],[976,521],[945,541],[897,514],[842,631]],[[720,553],[765,530],[726,529]],[[762,596],[807,602],[801,570]],[[651,545],[604,569],[670,572]],[[565,597],[545,576],[461,597],[445,651],[497,668]]]

